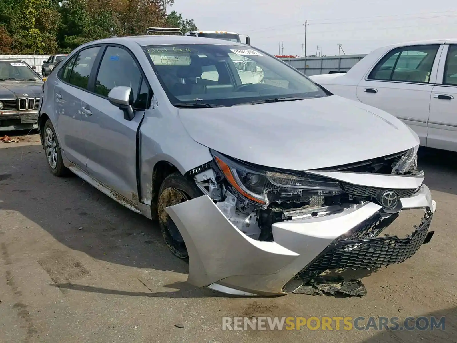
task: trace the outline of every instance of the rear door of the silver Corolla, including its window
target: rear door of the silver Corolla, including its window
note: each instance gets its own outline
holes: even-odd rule
[[[56,134],[65,157],[85,170],[86,152],[81,130],[81,99],[100,47],[81,50],[59,70],[54,86],[54,118]]]

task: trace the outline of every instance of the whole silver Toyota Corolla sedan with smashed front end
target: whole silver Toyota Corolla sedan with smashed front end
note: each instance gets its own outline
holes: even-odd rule
[[[287,294],[327,270],[403,262],[433,235],[417,135],[249,45],[86,43],[45,82],[39,128],[54,175],[158,220],[199,287]]]

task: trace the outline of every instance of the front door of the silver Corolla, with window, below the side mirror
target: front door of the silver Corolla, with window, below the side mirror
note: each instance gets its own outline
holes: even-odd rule
[[[132,88],[135,116],[131,121],[108,101],[116,86]],[[121,46],[107,46],[93,75],[91,93],[82,102],[89,175],[133,203],[138,202],[137,131],[149,107],[149,89],[133,54]]]

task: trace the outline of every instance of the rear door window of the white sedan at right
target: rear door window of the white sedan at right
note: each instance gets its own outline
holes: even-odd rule
[[[369,80],[428,83],[439,45],[396,48],[374,67]]]

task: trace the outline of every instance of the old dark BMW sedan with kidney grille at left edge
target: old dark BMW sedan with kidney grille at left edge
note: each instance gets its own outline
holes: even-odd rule
[[[0,59],[0,131],[37,129],[42,85],[27,63]]]

